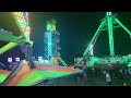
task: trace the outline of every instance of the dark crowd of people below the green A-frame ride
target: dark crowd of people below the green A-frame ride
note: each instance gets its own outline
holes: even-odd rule
[[[127,86],[131,79],[131,68],[128,68],[127,64],[119,64],[117,68],[112,65],[93,65],[87,68],[83,61],[81,63],[81,70],[83,70],[83,73],[79,76],[82,76],[81,79],[85,84],[90,77],[102,78],[108,86],[111,86],[116,79],[119,79],[121,85]]]

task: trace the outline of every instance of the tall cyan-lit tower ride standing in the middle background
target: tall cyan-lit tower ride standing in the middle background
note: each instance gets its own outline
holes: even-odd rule
[[[56,23],[57,21],[53,19],[47,22],[46,32],[44,35],[45,57],[52,64],[57,65],[60,62],[66,66],[66,62],[60,58],[60,33],[56,29]]]

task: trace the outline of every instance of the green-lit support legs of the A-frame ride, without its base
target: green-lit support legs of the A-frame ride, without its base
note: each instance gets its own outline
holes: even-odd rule
[[[115,26],[115,24],[119,24],[119,25]],[[110,56],[114,57],[115,56],[115,49],[114,49],[112,28],[116,28],[116,27],[122,27],[130,35],[130,38],[131,38],[131,32],[118,19],[116,19],[116,15],[112,15],[111,12],[106,12],[106,17],[103,19],[103,22],[102,22],[100,26],[98,27],[98,29],[95,33],[93,39],[88,44],[85,52],[83,53],[83,57],[86,56],[91,49],[93,49],[93,47],[95,45],[95,41],[97,40],[100,32],[106,30],[106,29],[108,29]],[[93,47],[91,48],[92,45],[93,45]],[[80,61],[78,61],[75,65],[78,65],[82,60],[83,60],[83,58]]]

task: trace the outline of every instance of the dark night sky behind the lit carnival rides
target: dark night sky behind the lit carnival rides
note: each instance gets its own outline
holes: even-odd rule
[[[131,29],[131,13],[116,12],[118,19]],[[87,44],[91,41],[105,12],[29,12],[29,24],[32,28],[31,39],[34,41],[34,56],[44,56],[44,33],[46,21],[57,20],[57,30],[60,32],[61,57],[66,62],[73,62],[74,57],[82,57]],[[4,28],[19,36],[20,30],[9,12],[0,13],[0,28]],[[122,28],[114,29],[116,54],[131,53],[131,39]],[[0,41],[0,47],[7,42]],[[95,48],[95,56],[108,56],[108,33],[102,32]],[[16,47],[0,56],[0,61],[5,62],[8,57],[24,57]]]

